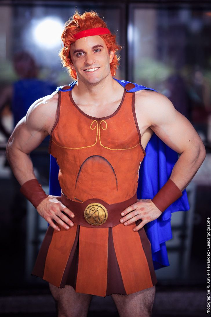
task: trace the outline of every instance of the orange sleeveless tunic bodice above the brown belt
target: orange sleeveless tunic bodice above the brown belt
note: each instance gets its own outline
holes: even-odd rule
[[[68,198],[99,198],[115,204],[136,193],[145,151],[137,130],[134,96],[124,91],[115,113],[95,118],[78,108],[71,91],[60,93],[49,153],[60,167],[59,184]]]

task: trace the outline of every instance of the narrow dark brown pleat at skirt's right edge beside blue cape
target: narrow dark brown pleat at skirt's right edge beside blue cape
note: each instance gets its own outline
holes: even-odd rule
[[[135,222],[136,226],[140,224],[141,220],[137,220]],[[146,235],[146,231],[144,228],[141,228],[137,231],[139,233],[142,247],[146,256],[146,260],[148,262],[150,274],[151,274],[151,279],[152,279],[152,284],[155,285],[157,283],[157,277],[155,274],[153,262],[152,262],[152,250],[151,250],[151,243]]]

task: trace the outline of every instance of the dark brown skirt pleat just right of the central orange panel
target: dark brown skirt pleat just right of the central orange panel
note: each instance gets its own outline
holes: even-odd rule
[[[106,296],[111,294],[127,295],[122,281],[119,264],[116,258],[112,228],[109,228]]]

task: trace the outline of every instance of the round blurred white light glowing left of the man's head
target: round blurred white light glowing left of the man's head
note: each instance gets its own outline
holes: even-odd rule
[[[64,23],[57,17],[41,19],[32,31],[34,42],[40,47],[53,49],[61,43],[63,29]]]

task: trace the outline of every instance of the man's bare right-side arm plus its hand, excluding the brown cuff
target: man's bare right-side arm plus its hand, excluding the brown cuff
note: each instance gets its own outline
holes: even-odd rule
[[[205,147],[198,133],[189,120],[174,108],[171,101],[157,92],[146,91],[138,94],[135,112],[143,136],[144,148],[150,139],[150,127],[165,144],[180,154],[170,179],[183,191],[206,156]],[[121,212],[121,216],[124,217],[120,222],[128,225],[141,219],[141,223],[133,228],[136,231],[146,223],[157,219],[161,213],[151,199],[140,199],[138,203]]]

